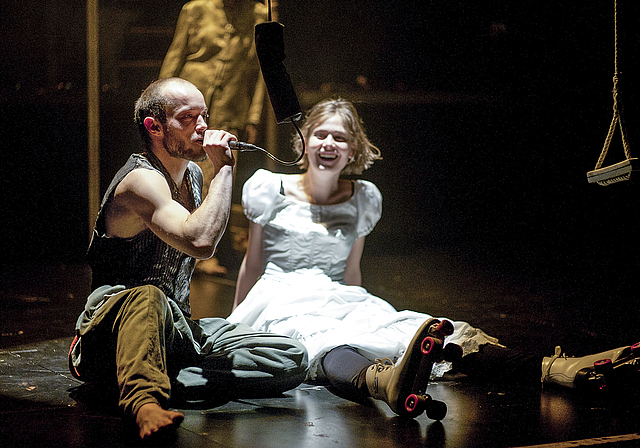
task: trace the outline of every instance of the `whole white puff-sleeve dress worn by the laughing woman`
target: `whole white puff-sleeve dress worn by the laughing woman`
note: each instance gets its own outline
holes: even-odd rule
[[[286,197],[281,176],[258,170],[244,185],[245,214],[263,228],[264,273],[228,320],[302,342],[309,352],[310,380],[323,375],[323,356],[340,345],[357,348],[372,362],[397,360],[432,316],[397,311],[366,289],[345,285],[343,278],[356,239],[380,219],[380,191],[358,180],[348,201],[313,205]],[[465,355],[497,344],[466,322],[453,323],[447,342],[459,344]],[[433,376],[450,368],[446,362],[436,365]]]

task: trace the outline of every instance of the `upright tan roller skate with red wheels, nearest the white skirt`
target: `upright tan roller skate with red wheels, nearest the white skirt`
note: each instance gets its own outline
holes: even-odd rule
[[[369,393],[382,400],[402,417],[415,418],[426,411],[432,420],[442,420],[447,405],[426,394],[434,362],[456,361],[462,349],[455,344],[444,346],[446,336],[453,334],[453,324],[447,320],[429,319],[422,324],[401,360],[376,360],[367,370]]]

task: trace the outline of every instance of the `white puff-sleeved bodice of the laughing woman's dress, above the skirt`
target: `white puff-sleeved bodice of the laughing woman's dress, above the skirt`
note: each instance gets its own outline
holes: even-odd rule
[[[243,189],[245,214],[263,228],[265,273],[320,269],[343,282],[353,244],[380,219],[380,191],[371,182],[358,180],[349,200],[314,205],[285,196],[282,176],[258,170]]]

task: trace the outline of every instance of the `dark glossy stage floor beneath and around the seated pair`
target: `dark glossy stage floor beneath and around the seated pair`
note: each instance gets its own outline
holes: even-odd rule
[[[562,283],[534,284],[465,261],[452,252],[365,256],[364,284],[397,308],[467,320],[510,346],[552,354],[586,354],[631,344],[628,332],[592,325]],[[232,277],[232,276],[230,276]],[[108,401],[76,381],[66,355],[89,289],[85,266],[3,266],[0,301],[0,440],[3,447],[136,446],[135,431]],[[202,298],[215,294],[215,305]],[[225,315],[231,278],[197,277],[194,312]],[[588,301],[587,301],[588,302]],[[272,399],[185,409],[186,418],[158,446],[178,447],[520,447],[640,446],[633,403],[587,400],[536,386],[431,384],[448,405],[441,422],[424,414],[397,418],[379,402],[356,405],[306,385]]]

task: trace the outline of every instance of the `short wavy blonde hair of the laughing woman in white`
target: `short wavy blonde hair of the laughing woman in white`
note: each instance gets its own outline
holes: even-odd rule
[[[362,120],[351,102],[343,99],[326,99],[320,101],[313,106],[307,114],[305,123],[301,129],[302,136],[305,142],[308,141],[311,132],[313,132],[318,125],[336,114],[342,118],[347,129],[349,149],[353,156],[352,161],[342,170],[342,174],[362,174],[375,160],[382,159],[382,156],[380,155],[380,150],[367,138]],[[298,155],[302,153],[302,140],[300,139],[300,135],[296,134],[294,136],[293,149]],[[303,170],[309,167],[309,159],[306,154],[300,162],[300,165]]]

